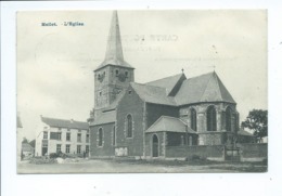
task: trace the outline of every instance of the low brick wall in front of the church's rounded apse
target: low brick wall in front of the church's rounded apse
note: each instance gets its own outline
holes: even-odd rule
[[[213,160],[225,159],[223,145],[167,146],[167,158],[193,158],[195,156]]]

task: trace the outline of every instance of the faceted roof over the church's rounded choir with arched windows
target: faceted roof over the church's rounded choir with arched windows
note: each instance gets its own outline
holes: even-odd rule
[[[183,81],[175,99],[178,105],[201,102],[235,103],[215,71]]]

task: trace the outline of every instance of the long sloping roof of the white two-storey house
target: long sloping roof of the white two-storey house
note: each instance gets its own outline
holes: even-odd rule
[[[69,128],[69,129],[89,129],[88,122],[76,121],[76,120],[64,120],[56,118],[48,118],[41,116],[41,121],[49,125],[50,127],[56,128]]]

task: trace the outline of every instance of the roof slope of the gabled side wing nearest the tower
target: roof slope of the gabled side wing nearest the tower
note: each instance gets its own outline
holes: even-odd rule
[[[136,82],[131,82],[130,86],[144,102],[176,106],[175,99],[172,96],[167,96],[165,88]]]

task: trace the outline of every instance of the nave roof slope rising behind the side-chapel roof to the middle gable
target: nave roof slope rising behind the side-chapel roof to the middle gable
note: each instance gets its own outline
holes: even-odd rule
[[[176,89],[176,86],[185,79],[187,79],[187,77],[184,74],[178,74],[178,75],[162,78],[162,79],[158,79],[155,81],[150,81],[146,84],[165,88],[167,91],[167,94],[170,95],[172,93],[172,91]]]

